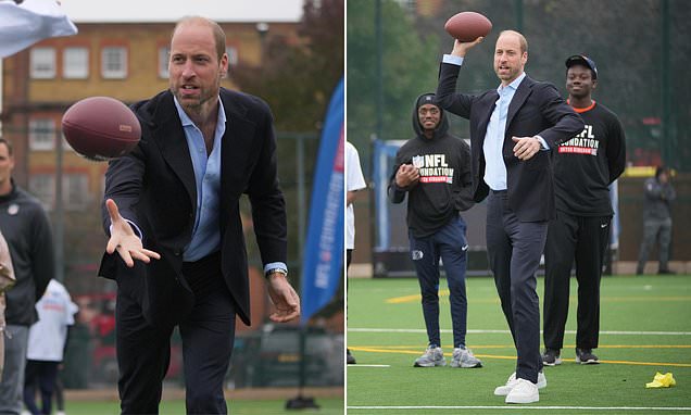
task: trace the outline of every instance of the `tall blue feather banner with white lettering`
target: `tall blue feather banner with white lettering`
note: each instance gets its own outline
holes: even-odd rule
[[[302,271],[302,324],[326,305],[342,276],[344,160],[343,79],[329,102],[312,187]]]

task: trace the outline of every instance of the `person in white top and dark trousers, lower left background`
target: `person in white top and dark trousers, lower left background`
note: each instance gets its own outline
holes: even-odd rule
[[[62,284],[51,279],[36,304],[38,322],[29,329],[24,381],[24,404],[32,415],[51,414],[51,402],[67,342],[67,327],[74,324],[77,304]],[[36,406],[36,386],[41,393],[41,408]]]

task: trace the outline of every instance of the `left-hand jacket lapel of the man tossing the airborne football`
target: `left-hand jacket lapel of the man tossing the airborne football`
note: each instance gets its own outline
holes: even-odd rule
[[[187,138],[173,102],[173,96],[166,93],[153,115],[153,140],[161,150],[161,155],[179,177],[190,197],[192,206],[197,206],[197,185],[194,167],[189,155]]]

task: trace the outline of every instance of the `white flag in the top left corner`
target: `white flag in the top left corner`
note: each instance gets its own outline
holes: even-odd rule
[[[72,36],[77,27],[55,0],[0,0],[0,59],[49,37]]]

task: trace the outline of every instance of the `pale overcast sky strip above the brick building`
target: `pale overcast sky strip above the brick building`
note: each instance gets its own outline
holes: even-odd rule
[[[297,22],[303,0],[61,0],[74,23],[176,22],[201,15],[216,22]]]

